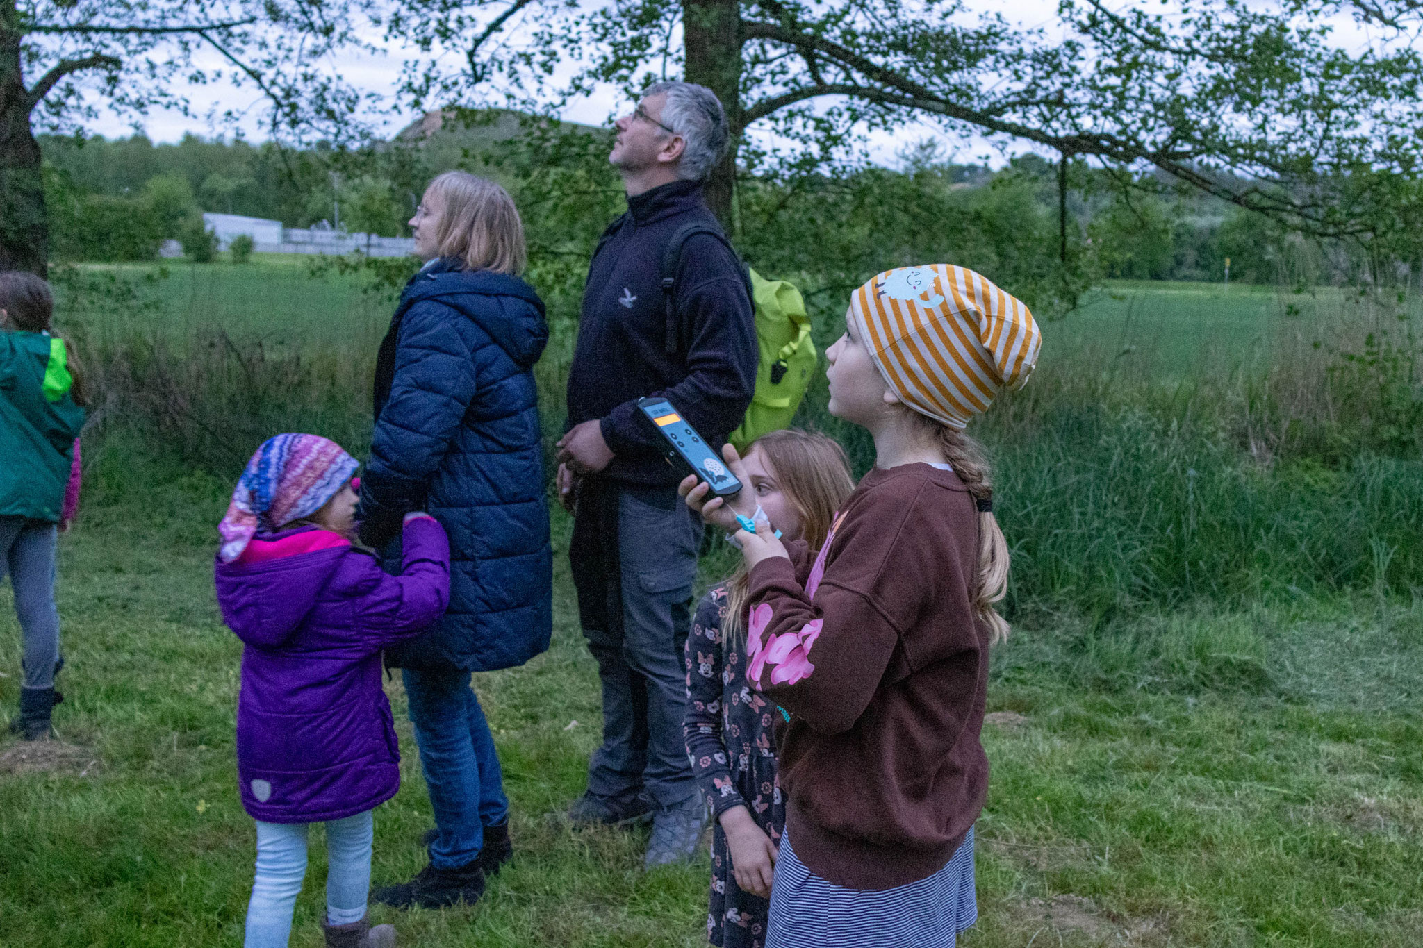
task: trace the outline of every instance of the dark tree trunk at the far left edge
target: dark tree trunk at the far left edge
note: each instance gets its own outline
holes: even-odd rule
[[[30,131],[30,94],[20,71],[14,3],[0,1],[0,270],[41,277],[50,256],[40,144]]]

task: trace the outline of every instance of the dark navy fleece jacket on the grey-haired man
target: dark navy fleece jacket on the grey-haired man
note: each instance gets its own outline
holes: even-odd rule
[[[628,199],[628,215],[593,257],[583,289],[578,347],[568,374],[568,426],[599,419],[612,480],[675,485],[683,472],[663,459],[663,442],[638,399],[663,397],[720,451],[746,415],[756,388],[756,320],[741,264],[717,237],[682,247],[673,300],[679,351],[666,351],[662,256],[694,220],[716,226],[697,182],[676,182]]]

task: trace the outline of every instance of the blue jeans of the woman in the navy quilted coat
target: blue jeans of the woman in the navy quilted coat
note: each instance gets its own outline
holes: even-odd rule
[[[470,686],[470,672],[407,668],[404,679],[440,831],[430,844],[430,863],[435,868],[468,866],[484,849],[484,827],[509,814],[494,735]]]

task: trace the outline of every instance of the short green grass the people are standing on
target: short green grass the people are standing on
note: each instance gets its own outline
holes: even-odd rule
[[[253,833],[232,752],[240,647],[211,591],[218,516],[192,482],[64,539],[63,743],[0,739],[0,944],[240,944]],[[643,874],[639,834],[561,817],[598,691],[559,560],[554,648],[478,677],[518,861],[474,910],[379,911],[403,944],[702,944],[704,860]],[[7,708],[17,642],[0,596]],[[387,689],[406,760],[377,813],[377,881],[420,868],[430,824],[398,681]],[[999,650],[989,694],[982,921],[965,945],[1423,944],[1423,603],[1037,617]],[[307,948],[319,839],[293,937]]]

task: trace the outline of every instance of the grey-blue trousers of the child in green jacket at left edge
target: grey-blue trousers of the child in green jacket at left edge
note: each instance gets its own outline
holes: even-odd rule
[[[26,688],[53,688],[60,662],[60,613],[54,608],[57,536],[58,529],[44,520],[0,517],[0,578],[9,573],[14,588]]]

